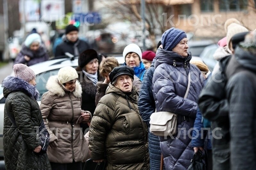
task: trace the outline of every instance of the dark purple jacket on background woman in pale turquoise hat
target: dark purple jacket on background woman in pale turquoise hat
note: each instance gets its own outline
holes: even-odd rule
[[[30,57],[29,61],[26,61],[24,56]],[[43,61],[47,61],[49,56],[47,54],[47,50],[44,45],[40,45],[37,51],[30,50],[29,47],[23,45],[21,51],[17,55],[14,64],[27,64],[27,66],[32,66],[37,63],[41,63]]]

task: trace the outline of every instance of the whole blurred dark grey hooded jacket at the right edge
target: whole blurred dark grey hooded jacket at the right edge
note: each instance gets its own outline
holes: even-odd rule
[[[226,67],[230,121],[230,165],[256,167],[256,57],[239,46]]]

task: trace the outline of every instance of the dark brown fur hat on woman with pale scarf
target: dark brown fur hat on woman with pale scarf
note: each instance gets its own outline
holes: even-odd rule
[[[89,49],[83,51],[79,58],[78,58],[78,66],[83,68],[85,65],[87,65],[91,60],[97,58],[98,59],[98,54],[95,50]]]

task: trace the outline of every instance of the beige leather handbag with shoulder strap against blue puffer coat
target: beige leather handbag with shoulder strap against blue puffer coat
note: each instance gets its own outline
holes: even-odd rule
[[[190,88],[190,73],[188,74],[188,87],[184,99],[187,98]],[[154,112],[150,116],[149,131],[157,136],[175,135],[177,132],[177,115],[172,112]]]

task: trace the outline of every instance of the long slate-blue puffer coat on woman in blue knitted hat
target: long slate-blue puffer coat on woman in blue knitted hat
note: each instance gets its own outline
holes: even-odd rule
[[[170,138],[165,141],[160,139],[166,169],[187,169],[194,154],[188,130],[193,127],[196,118],[197,101],[202,89],[203,77],[196,66],[189,64],[191,58],[191,53],[188,53],[188,57],[182,58],[177,53],[164,49],[158,49],[156,55],[152,81],[156,110],[177,114],[177,127],[186,129],[185,131],[177,130],[180,135],[175,139]],[[188,96],[184,99],[189,72],[191,85]]]

